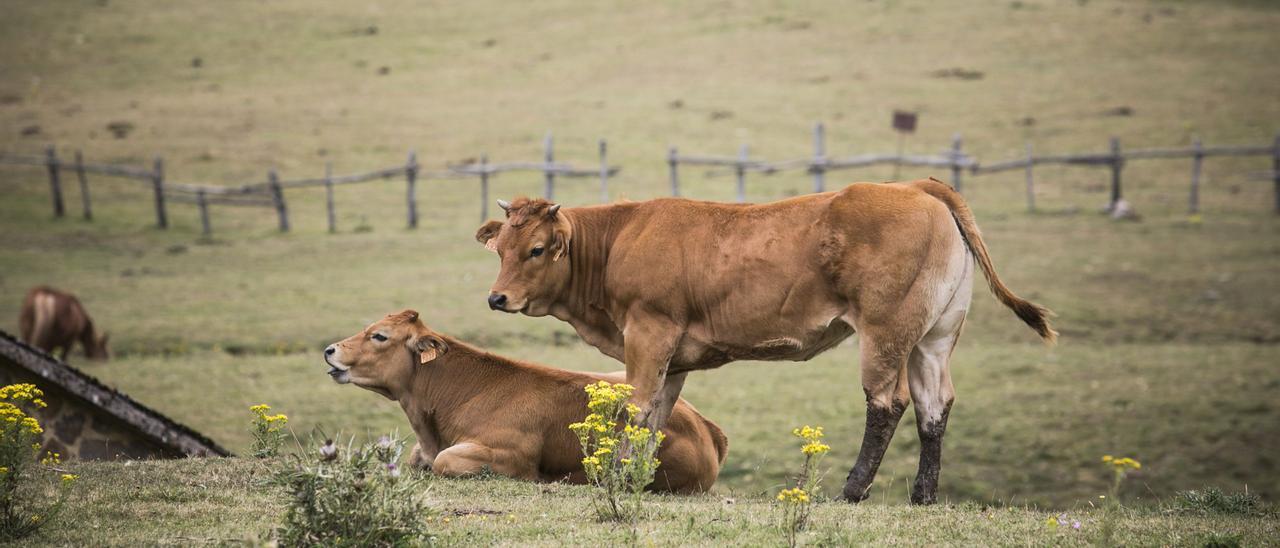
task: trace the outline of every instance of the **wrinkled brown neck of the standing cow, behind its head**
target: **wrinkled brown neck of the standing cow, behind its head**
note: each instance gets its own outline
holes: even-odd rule
[[[570,239],[570,282],[550,307],[550,314],[579,332],[586,343],[608,355],[621,344],[621,332],[609,316],[609,250],[626,228],[635,204],[575,207],[567,219],[573,229]],[[617,350],[621,352],[621,350]],[[621,356],[614,356],[621,360]]]

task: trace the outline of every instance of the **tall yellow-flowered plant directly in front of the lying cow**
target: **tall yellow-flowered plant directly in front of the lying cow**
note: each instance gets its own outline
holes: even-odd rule
[[[627,403],[634,389],[603,380],[588,385],[588,415],[568,426],[582,446],[582,471],[595,487],[591,506],[602,520],[634,524],[641,513],[644,489],[660,465],[657,456],[664,434],[630,424],[640,412]]]

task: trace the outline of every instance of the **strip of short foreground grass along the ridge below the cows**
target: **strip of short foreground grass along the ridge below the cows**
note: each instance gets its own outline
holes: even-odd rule
[[[59,521],[29,545],[238,544],[265,539],[283,515],[283,493],[264,487],[269,465],[243,458],[81,463],[77,493]],[[434,479],[430,529],[442,544],[616,545],[628,531],[602,524],[582,487],[506,479]],[[653,497],[640,522],[655,545],[778,545],[780,513],[762,498],[735,496]],[[1066,513],[1082,522],[1050,529]],[[1088,504],[1064,511],[979,503],[932,508],[842,502],[817,503],[805,544],[1089,545],[1098,542],[1102,512]],[[1240,516],[1183,516],[1125,510],[1114,540],[1125,545],[1199,544],[1219,535],[1242,545],[1274,542],[1276,521]]]

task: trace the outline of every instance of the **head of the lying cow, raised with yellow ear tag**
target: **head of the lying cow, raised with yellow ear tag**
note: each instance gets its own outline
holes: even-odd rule
[[[396,399],[397,393],[410,388],[416,367],[448,351],[448,343],[424,325],[416,311],[406,310],[329,344],[324,362],[335,383],[351,383]]]

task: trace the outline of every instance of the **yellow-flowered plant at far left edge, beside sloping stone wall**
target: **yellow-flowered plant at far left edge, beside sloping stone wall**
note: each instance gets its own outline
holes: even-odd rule
[[[44,396],[35,384],[0,388],[0,542],[28,536],[52,521],[78,478],[56,467],[58,453],[38,458],[45,429],[27,411],[46,407]],[[49,497],[50,490],[56,494]]]

